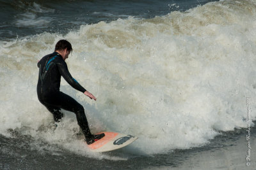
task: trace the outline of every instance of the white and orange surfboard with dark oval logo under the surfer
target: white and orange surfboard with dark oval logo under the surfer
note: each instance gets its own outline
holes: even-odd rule
[[[120,134],[118,132],[100,133],[104,133],[105,136],[99,139],[99,141],[95,141],[91,145],[88,145],[92,152],[109,152],[112,150],[117,150],[131,144],[136,139],[138,139],[138,137],[132,136],[130,134]]]

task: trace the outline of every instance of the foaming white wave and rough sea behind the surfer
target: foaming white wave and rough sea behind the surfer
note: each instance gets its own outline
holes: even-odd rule
[[[73,113],[64,111],[58,127],[51,128],[52,115],[36,96],[36,62],[53,52],[59,39],[72,43],[69,71],[97,101],[65,80],[61,91],[83,104],[92,132],[138,136],[127,153],[201,147],[222,132],[247,128],[248,118],[254,125],[254,0],[0,4],[2,141],[23,136],[39,152],[47,148],[54,155],[63,148],[94,159],[126,159],[91,153],[76,138]]]

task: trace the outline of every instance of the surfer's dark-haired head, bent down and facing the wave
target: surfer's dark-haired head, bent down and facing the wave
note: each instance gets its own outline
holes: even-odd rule
[[[72,50],[72,45],[66,39],[61,39],[56,43],[54,51],[60,53],[63,60],[65,60]]]

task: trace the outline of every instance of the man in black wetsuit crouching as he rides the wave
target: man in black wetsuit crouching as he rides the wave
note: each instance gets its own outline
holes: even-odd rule
[[[96,101],[96,97],[84,89],[69,73],[65,60],[68,58],[70,52],[72,52],[72,45],[67,40],[61,39],[56,43],[54,52],[45,55],[38,62],[37,96],[40,103],[44,104],[47,110],[52,113],[55,122],[60,122],[63,117],[63,113],[60,111],[61,108],[74,112],[76,114],[77,124],[82,129],[86,143],[90,145],[103,138],[105,134],[91,134],[83,106],[77,103],[72,97],[60,92],[60,80],[61,76],[63,76],[74,89],[83,92],[90,99]]]

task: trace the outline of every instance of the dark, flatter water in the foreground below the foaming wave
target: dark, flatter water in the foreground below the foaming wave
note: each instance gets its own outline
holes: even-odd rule
[[[125,149],[103,153],[125,160],[92,159],[19,134],[15,138],[0,136],[0,169],[255,169],[256,129],[250,129],[248,140],[246,130],[223,132],[208,145],[172,153],[138,156]],[[248,142],[250,161],[246,161]]]

